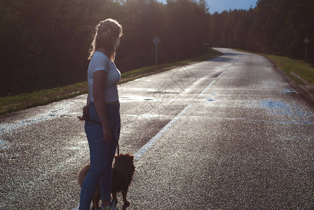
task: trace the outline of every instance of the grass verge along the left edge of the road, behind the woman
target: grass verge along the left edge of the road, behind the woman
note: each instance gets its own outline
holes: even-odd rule
[[[218,55],[221,55],[221,52],[210,49],[207,51],[207,53],[205,53],[205,55],[201,55],[200,57],[195,57],[193,59],[186,59],[181,62],[158,64],[155,66],[148,66],[141,69],[136,69],[134,71],[128,71],[122,73],[122,79],[119,83],[127,83],[128,81],[142,78],[144,76],[149,76],[153,73],[168,71],[178,66],[184,66],[193,62],[204,61]],[[76,83],[73,85],[67,85],[64,87],[54,87],[47,90],[34,91],[32,93],[23,93],[14,96],[0,97],[0,115],[5,113],[11,113],[14,111],[29,109],[35,106],[43,106],[52,102],[58,102],[63,99],[69,99],[86,93],[88,93],[87,81]]]

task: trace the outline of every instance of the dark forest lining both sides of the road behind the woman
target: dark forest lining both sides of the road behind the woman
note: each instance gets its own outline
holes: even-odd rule
[[[227,47],[304,59],[314,64],[314,1],[259,0],[250,10],[210,14],[205,0],[1,0],[0,96],[86,80],[96,25],[123,26],[121,72]],[[210,45],[203,45],[209,43]]]

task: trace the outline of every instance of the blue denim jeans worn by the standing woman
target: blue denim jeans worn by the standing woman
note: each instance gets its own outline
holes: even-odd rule
[[[90,209],[90,202],[93,200],[97,184],[100,185],[100,199],[111,201],[112,161],[121,130],[120,104],[106,104],[106,109],[112,133],[110,143],[102,141],[102,125],[88,120],[85,122],[85,132],[90,148],[90,170],[83,181],[79,209]],[[100,122],[93,102],[90,104],[89,118]]]

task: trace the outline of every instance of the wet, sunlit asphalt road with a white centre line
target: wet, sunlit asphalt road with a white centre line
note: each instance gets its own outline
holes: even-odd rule
[[[127,209],[314,209],[313,104],[268,59],[218,50],[118,86]],[[78,206],[85,100],[0,116],[0,209]]]

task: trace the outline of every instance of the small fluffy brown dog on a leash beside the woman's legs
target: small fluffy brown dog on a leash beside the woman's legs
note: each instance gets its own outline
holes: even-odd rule
[[[126,194],[128,193],[128,188],[133,179],[133,174],[135,172],[134,166],[134,156],[130,154],[120,154],[114,157],[114,166],[112,167],[112,183],[111,183],[111,193],[112,197],[117,200],[116,193],[122,192],[124,206],[130,205],[130,202],[126,200]],[[78,172],[77,182],[80,187],[82,187],[84,178],[90,169],[90,164],[87,163],[83,165],[80,172]],[[93,197],[93,209],[100,209],[100,187],[97,186],[95,194]]]

